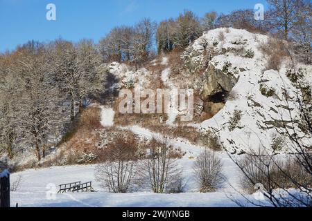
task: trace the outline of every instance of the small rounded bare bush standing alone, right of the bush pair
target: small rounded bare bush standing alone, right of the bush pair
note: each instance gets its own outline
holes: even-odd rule
[[[194,163],[193,170],[200,184],[200,192],[213,192],[223,183],[223,164],[214,151],[205,148]]]

